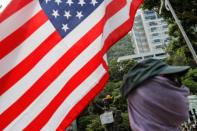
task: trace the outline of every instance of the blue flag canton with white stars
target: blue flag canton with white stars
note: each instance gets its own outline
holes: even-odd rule
[[[86,19],[104,0],[39,0],[49,20],[65,37]]]

